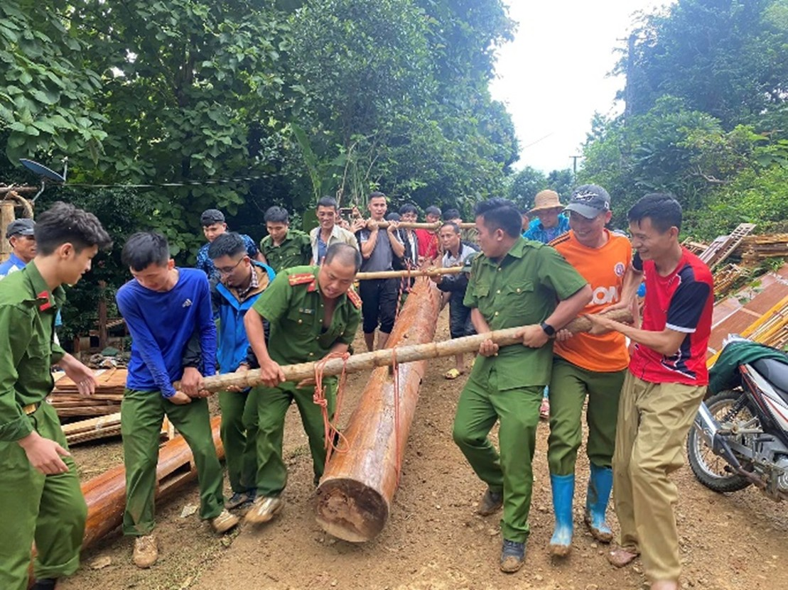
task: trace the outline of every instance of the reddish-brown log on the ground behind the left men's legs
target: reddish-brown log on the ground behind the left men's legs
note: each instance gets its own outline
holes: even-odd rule
[[[214,445],[219,458],[224,458],[225,448],[219,437],[221,417],[210,421]],[[156,499],[166,499],[197,479],[194,456],[183,436],[176,436],[158,451],[156,466]],[[82,548],[112,532],[123,521],[126,506],[126,469],[119,465],[82,484],[87,503],[87,525]]]

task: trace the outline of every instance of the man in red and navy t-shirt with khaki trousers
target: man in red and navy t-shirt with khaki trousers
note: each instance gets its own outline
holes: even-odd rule
[[[652,590],[675,590],[681,562],[668,475],[682,466],[682,443],[701,404],[712,326],[712,273],[678,242],[682,208],[670,195],[645,195],[627,216],[633,267],[645,273],[641,328],[588,316],[634,344],[619,402],[613,495],[621,532],[608,560],[641,555]]]

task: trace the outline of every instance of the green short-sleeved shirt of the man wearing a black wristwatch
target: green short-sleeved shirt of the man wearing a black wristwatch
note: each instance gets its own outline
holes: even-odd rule
[[[518,238],[499,262],[474,258],[463,305],[476,307],[492,330],[539,324],[586,284],[552,247]],[[474,371],[496,368],[501,390],[546,385],[552,367],[552,341],[541,348],[513,344],[498,356],[479,357]]]

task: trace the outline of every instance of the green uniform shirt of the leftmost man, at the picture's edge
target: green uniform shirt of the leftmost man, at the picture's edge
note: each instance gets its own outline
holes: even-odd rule
[[[0,281],[0,440],[33,431],[24,406],[42,403],[54,386],[50,367],[65,352],[53,341],[65,291],[50,293],[35,261]]]

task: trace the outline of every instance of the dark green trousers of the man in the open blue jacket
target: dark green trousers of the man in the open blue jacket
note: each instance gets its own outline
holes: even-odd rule
[[[257,477],[257,395],[253,391],[219,391],[219,433],[230,488],[236,493],[254,489]],[[247,406],[255,411],[247,412]]]

